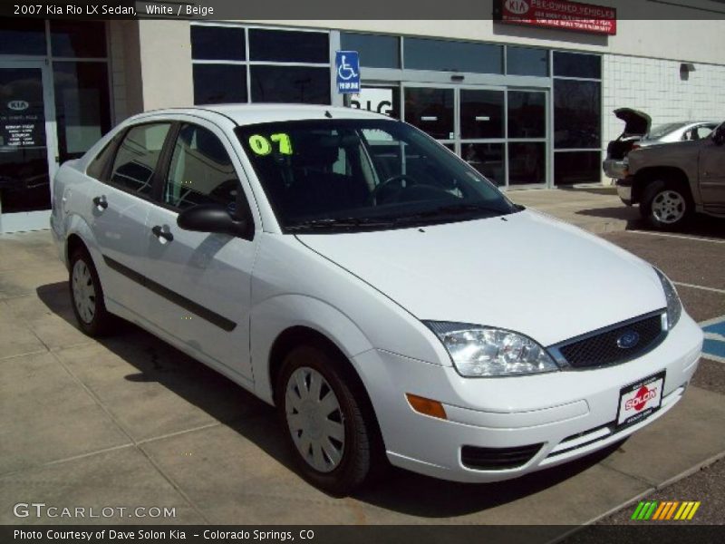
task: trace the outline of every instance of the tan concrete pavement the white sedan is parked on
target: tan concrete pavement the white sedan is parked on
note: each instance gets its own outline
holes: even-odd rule
[[[549,211],[582,215],[568,206]],[[274,411],[237,385],[133,325],[101,342],[82,335],[66,277],[49,233],[0,237],[0,523],[581,524],[725,452],[713,428],[723,392],[692,385],[618,449],[564,467],[487,485],[391,471],[333,499],[291,470]],[[14,516],[14,504],[34,501],[175,517]]]

